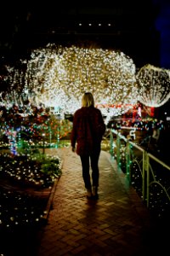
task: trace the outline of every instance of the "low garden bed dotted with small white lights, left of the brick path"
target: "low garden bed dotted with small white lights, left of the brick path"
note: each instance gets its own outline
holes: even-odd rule
[[[0,157],[0,231],[42,224],[61,175],[60,158],[40,152]]]

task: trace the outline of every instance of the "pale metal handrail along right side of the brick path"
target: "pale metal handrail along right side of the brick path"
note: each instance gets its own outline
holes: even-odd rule
[[[116,139],[114,141],[113,134],[116,135]],[[138,168],[139,172],[142,177],[141,181],[141,198],[144,202],[146,202],[146,206],[150,207],[150,197],[154,194],[153,186],[156,186],[156,188],[161,189],[161,194],[165,195],[167,200],[167,205],[170,207],[170,166],[167,166],[166,163],[164,163],[162,160],[159,160],[154,156],[153,154],[150,154],[144,148],[141,148],[136,143],[131,142],[126,137],[122,136],[122,134],[119,131],[116,131],[114,129],[110,130],[110,141],[111,141],[111,155],[114,155],[114,150],[116,151],[116,163],[119,168],[121,168],[121,150],[122,150],[122,143],[123,143],[123,149],[125,154],[125,175],[127,177],[128,183],[132,184],[132,177],[134,176],[133,173],[133,164],[135,163]],[[136,159],[136,155],[134,154],[134,150],[138,150],[139,154],[141,155],[140,160]],[[163,169],[162,172],[160,172],[159,167],[157,166],[159,164],[160,168]],[[159,180],[157,171],[159,171],[161,174],[166,173],[168,175],[167,183],[164,184],[165,181]],[[168,173],[167,173],[168,172]],[[159,193],[158,193],[159,194]],[[160,209],[161,211],[161,209]]]

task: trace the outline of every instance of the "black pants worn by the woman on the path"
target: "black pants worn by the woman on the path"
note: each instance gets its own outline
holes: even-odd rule
[[[80,156],[82,161],[82,177],[86,189],[91,189],[91,185],[95,187],[99,186],[99,153],[100,151],[93,154]],[[92,168],[92,183],[90,177],[90,164]]]

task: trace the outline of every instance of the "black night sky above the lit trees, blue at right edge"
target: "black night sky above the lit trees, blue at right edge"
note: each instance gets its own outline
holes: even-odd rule
[[[137,68],[148,63],[170,68],[170,1],[136,2],[5,3],[0,13],[1,59],[29,58],[31,49],[48,43],[95,44],[123,51]]]

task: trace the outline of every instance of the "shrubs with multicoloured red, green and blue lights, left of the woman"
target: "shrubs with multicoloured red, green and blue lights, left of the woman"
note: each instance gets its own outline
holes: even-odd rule
[[[17,106],[1,109],[0,148],[10,148],[13,153],[24,148],[57,148],[59,140],[71,131],[71,121],[49,113],[48,108],[34,107],[27,116]]]

